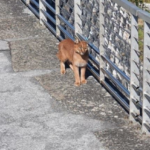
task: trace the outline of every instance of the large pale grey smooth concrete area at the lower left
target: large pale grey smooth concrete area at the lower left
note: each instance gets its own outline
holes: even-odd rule
[[[2,74],[0,83],[1,149],[101,147],[92,132],[109,128],[109,123],[55,109],[58,104],[28,73]]]

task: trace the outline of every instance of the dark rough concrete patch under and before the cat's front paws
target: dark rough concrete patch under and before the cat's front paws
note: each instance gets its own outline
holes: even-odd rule
[[[64,76],[53,71],[36,79],[69,112],[109,121],[115,126],[125,124],[125,111],[116,101],[112,101],[109,93],[92,76],[87,78],[86,85],[79,87],[74,86],[74,76],[70,69],[67,69]]]

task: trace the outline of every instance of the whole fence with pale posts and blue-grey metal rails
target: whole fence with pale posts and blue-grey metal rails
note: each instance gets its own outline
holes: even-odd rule
[[[59,40],[88,42],[88,69],[150,134],[150,14],[126,0],[22,1]]]

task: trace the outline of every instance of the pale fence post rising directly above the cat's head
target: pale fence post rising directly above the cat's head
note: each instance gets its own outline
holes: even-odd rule
[[[75,36],[76,33],[82,34],[82,29],[80,26],[82,26],[82,21],[79,16],[81,16],[82,11],[79,8],[81,5],[81,0],[74,0],[74,28],[75,28]]]

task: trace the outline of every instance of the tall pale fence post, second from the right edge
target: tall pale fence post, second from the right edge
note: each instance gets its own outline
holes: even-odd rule
[[[139,102],[137,88],[139,88],[139,46],[138,46],[138,17],[131,14],[131,54],[130,54],[130,109],[129,119],[135,122],[140,114],[136,103]],[[136,103],[135,103],[136,102]]]

